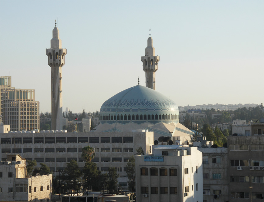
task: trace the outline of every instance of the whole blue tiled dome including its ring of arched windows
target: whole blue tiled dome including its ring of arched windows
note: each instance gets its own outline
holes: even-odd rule
[[[178,122],[179,109],[173,100],[156,90],[136,85],[105,101],[100,109],[100,120],[101,122],[177,120]]]

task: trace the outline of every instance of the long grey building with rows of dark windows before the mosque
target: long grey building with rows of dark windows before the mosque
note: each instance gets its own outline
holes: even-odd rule
[[[45,131],[40,133],[1,133],[2,161],[8,154],[20,154],[25,159],[45,163],[52,171],[63,171],[71,159],[84,168],[82,148],[90,145],[96,155],[93,162],[103,173],[115,167],[118,182],[127,186],[125,166],[129,158],[142,147],[144,154],[152,154],[153,132],[83,132],[66,133]],[[57,173],[58,174],[58,173]]]

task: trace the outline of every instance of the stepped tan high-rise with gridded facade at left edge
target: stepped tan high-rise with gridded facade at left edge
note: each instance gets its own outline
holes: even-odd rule
[[[35,90],[11,87],[11,76],[0,76],[2,122],[11,131],[39,130],[39,102]]]

